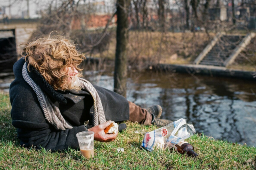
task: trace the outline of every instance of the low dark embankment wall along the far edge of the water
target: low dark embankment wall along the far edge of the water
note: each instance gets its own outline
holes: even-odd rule
[[[103,63],[106,63],[105,65]],[[95,70],[95,66],[98,65],[98,70],[101,68],[108,67],[113,69],[115,66],[115,61],[113,59],[100,59],[100,58],[86,58],[85,63],[86,70]],[[93,67],[90,65],[92,64]],[[104,67],[103,67],[104,66]],[[135,66],[136,67],[136,66]],[[97,70],[96,69],[96,70]],[[131,70],[130,70],[131,69]],[[135,72],[138,69],[139,71],[152,70],[154,72],[167,72],[167,73],[186,73],[191,76],[205,75],[210,77],[227,77],[227,78],[237,78],[244,80],[256,80],[255,71],[244,70],[244,69],[233,69],[226,67],[218,66],[207,66],[207,65],[196,65],[196,64],[145,64],[144,69],[134,68],[129,66],[129,71]]]

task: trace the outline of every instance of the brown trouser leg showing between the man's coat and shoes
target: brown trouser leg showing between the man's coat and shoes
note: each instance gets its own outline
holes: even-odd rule
[[[129,102],[130,117],[129,121],[140,124],[151,125],[152,115],[146,109],[140,108],[136,104]]]

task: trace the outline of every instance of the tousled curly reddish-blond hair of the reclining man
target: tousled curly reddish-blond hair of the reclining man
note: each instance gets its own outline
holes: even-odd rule
[[[64,36],[54,35],[39,37],[28,44],[21,55],[29,65],[33,66],[55,90],[68,90],[72,88],[72,81],[67,73],[67,67],[74,67],[82,71],[78,66],[85,59],[82,53],[76,50],[76,44]],[[79,73],[79,77],[82,74]]]

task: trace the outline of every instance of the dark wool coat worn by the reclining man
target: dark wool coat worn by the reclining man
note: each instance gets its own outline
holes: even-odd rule
[[[91,95],[85,90],[55,91],[34,67],[30,67],[29,76],[60,109],[66,122],[73,127],[56,130],[45,119],[36,93],[22,77],[24,63],[25,59],[21,58],[14,64],[15,80],[10,85],[12,125],[17,128],[21,146],[33,146],[37,149],[43,147],[52,151],[68,147],[79,148],[76,133],[85,131],[84,121],[93,119],[90,114],[90,109],[93,108]],[[94,88],[100,96],[107,120],[129,120],[129,104],[124,97],[98,86]]]

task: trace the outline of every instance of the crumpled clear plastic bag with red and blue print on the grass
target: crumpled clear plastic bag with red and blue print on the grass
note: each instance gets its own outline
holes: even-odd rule
[[[191,137],[195,133],[192,123],[186,119],[179,119],[162,128],[147,132],[140,147],[152,151],[174,147],[180,141]]]

